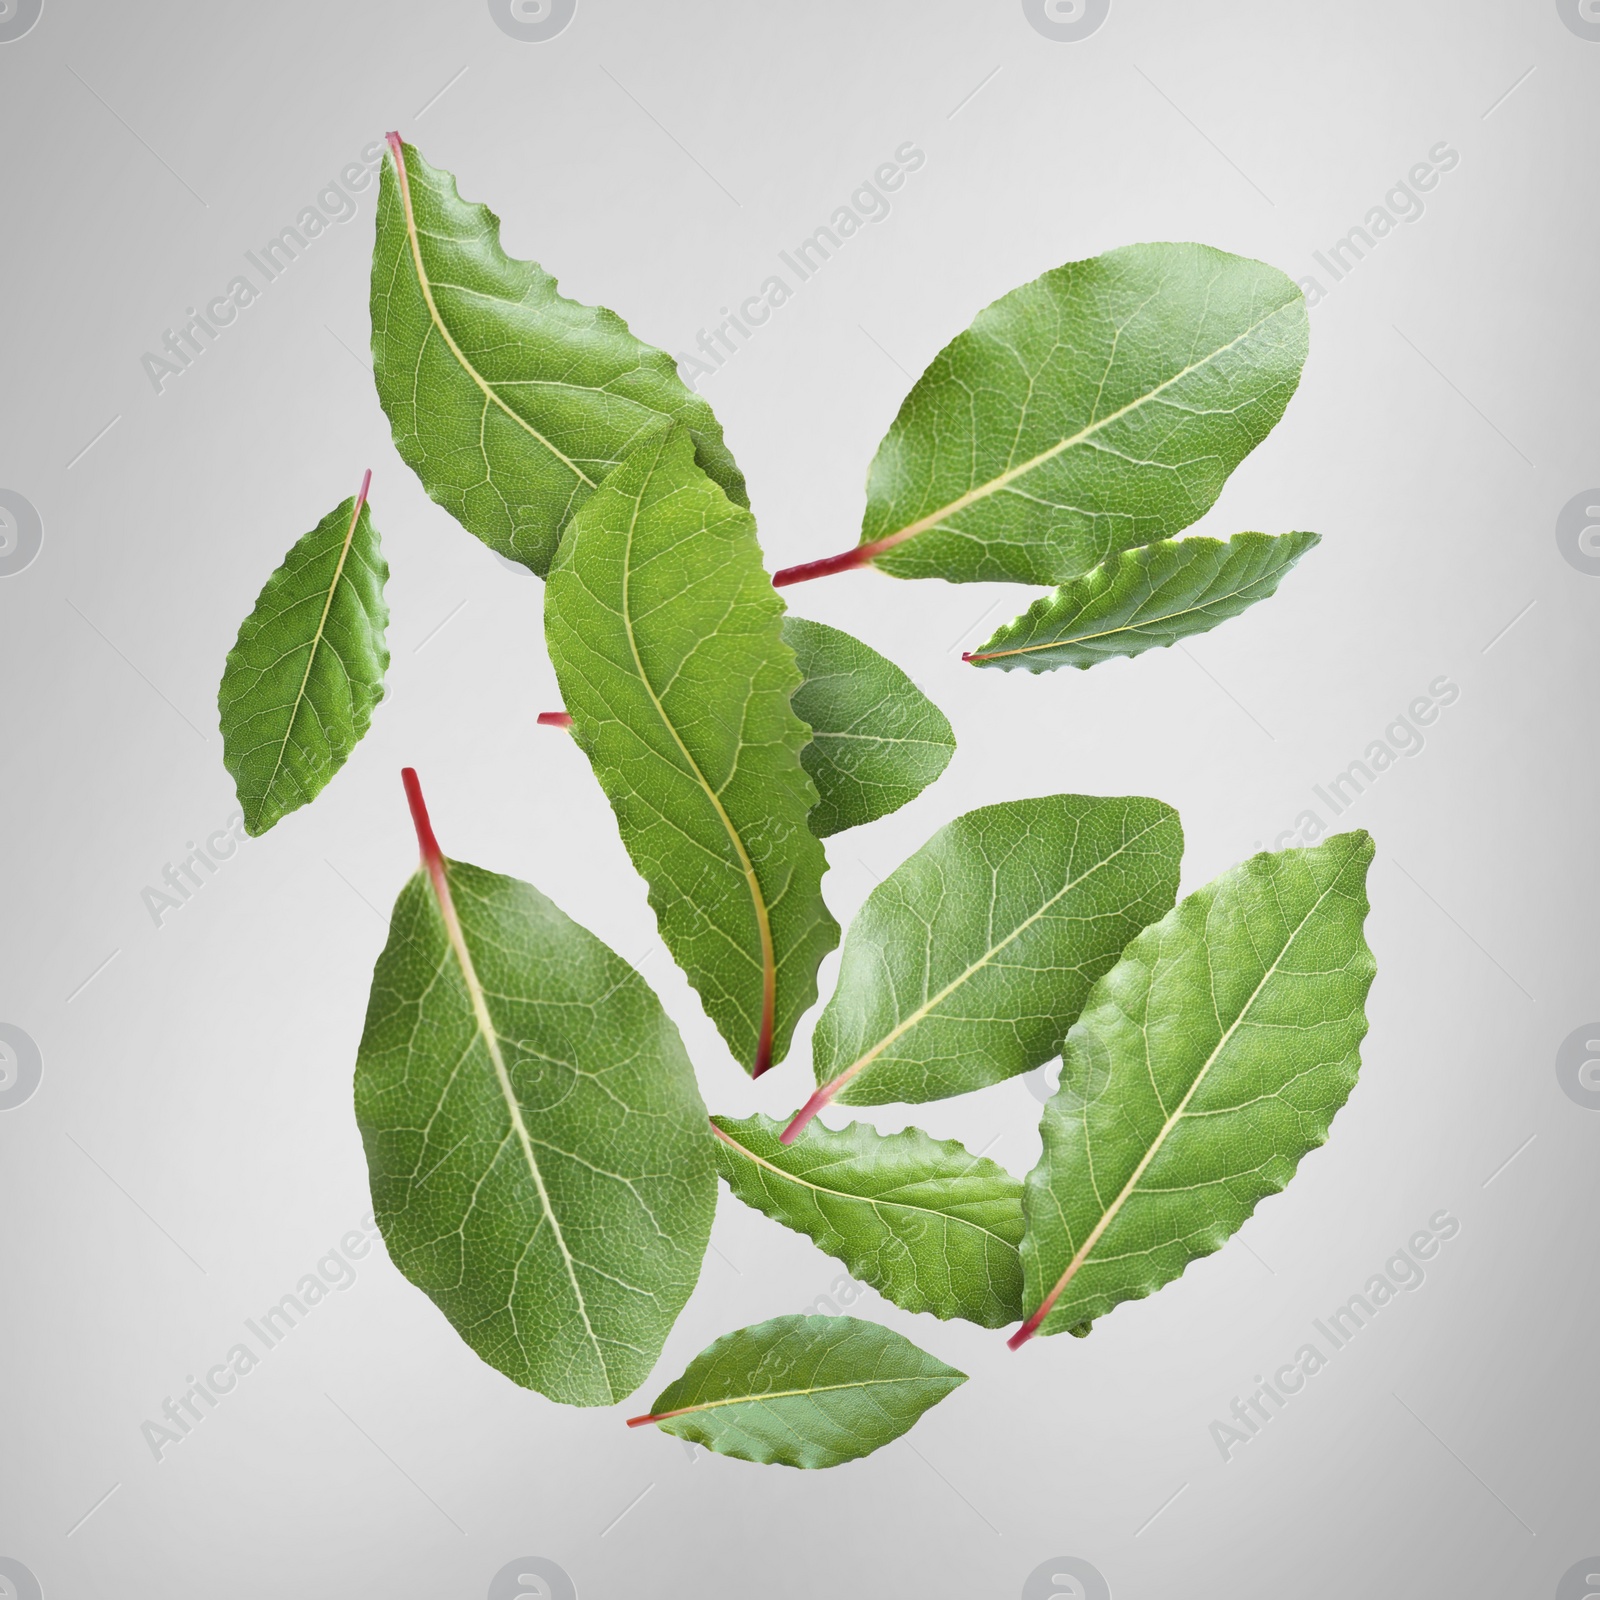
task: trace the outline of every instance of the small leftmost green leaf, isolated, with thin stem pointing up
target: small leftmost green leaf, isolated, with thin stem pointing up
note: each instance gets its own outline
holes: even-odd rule
[[[245,830],[315,800],[366,733],[389,670],[389,565],[366,485],[296,541],[227,653],[222,765]]]

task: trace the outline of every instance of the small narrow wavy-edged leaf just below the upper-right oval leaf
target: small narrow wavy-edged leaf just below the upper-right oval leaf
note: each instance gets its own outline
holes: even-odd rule
[[[1226,542],[1163,539],[1125,550],[1040,595],[962,659],[1008,672],[1050,672],[1176,645],[1277,594],[1283,576],[1318,541],[1315,533],[1235,533]]]

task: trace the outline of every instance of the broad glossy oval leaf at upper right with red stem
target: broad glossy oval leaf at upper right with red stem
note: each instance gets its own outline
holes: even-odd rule
[[[1283,414],[1306,302],[1206,245],[1128,245],[979,312],[917,379],[867,477],[864,562],[1056,584],[1187,528]]]

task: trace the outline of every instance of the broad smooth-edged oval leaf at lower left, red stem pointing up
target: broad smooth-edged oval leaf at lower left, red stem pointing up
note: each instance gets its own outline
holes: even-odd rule
[[[694,1288],[706,1107],[645,981],[533,885],[434,842],[373,974],[355,1117],[395,1266],[507,1378],[611,1405]]]

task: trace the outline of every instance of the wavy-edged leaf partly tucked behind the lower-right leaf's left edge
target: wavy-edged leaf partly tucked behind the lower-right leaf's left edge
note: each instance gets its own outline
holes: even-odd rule
[[[1003,1328],[1022,1315],[1022,1184],[920,1128],[813,1123],[782,1144],[770,1117],[712,1117],[728,1187],[814,1240],[902,1310]]]

